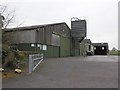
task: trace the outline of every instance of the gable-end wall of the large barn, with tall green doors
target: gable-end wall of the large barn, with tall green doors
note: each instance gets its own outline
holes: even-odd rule
[[[65,23],[44,27],[46,57],[70,56],[70,29]]]

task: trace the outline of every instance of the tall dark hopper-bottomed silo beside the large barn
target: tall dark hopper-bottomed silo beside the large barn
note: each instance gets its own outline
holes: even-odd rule
[[[75,19],[75,20],[73,20]],[[72,47],[71,55],[80,55],[79,43],[86,37],[87,27],[86,20],[80,20],[78,18],[71,19],[71,37],[72,37]],[[77,45],[78,44],[78,45]]]

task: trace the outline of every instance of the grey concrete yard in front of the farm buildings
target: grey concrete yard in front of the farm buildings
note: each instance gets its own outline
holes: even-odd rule
[[[3,79],[3,88],[118,88],[118,57],[45,59],[30,75]]]

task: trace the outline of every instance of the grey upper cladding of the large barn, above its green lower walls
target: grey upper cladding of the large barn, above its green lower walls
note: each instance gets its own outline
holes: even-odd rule
[[[45,25],[43,27],[38,27],[34,30],[18,30],[8,33],[12,34],[12,38],[14,38],[15,44],[41,43],[47,45],[60,46],[60,43],[58,43],[57,40],[55,40],[54,42],[52,41],[55,35],[56,37],[58,37],[58,39],[60,39],[60,36],[70,38],[70,29],[65,23]]]

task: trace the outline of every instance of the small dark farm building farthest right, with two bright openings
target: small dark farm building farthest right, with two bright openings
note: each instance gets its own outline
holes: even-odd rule
[[[107,55],[109,52],[108,43],[93,43],[94,55]]]

